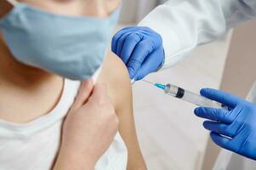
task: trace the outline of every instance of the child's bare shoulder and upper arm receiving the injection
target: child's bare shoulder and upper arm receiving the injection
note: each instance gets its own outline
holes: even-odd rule
[[[128,148],[128,169],[146,169],[135,129],[131,82],[126,66],[117,55],[111,52],[107,54],[98,81],[107,84],[116,109],[119,132]]]

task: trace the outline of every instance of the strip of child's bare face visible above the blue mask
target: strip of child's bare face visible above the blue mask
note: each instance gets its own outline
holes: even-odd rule
[[[96,16],[105,18],[111,14],[122,0],[19,0],[50,13],[69,16]]]

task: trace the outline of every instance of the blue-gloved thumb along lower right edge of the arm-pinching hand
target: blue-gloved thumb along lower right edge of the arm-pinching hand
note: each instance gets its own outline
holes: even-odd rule
[[[134,77],[135,81],[139,81],[143,79],[148,74],[156,71],[159,68],[159,66],[162,64],[162,59],[163,59],[163,56],[162,58],[160,56],[162,54],[160,50],[162,49],[161,48],[157,49],[145,59],[145,61],[139,68],[139,71],[137,72],[136,76]]]

